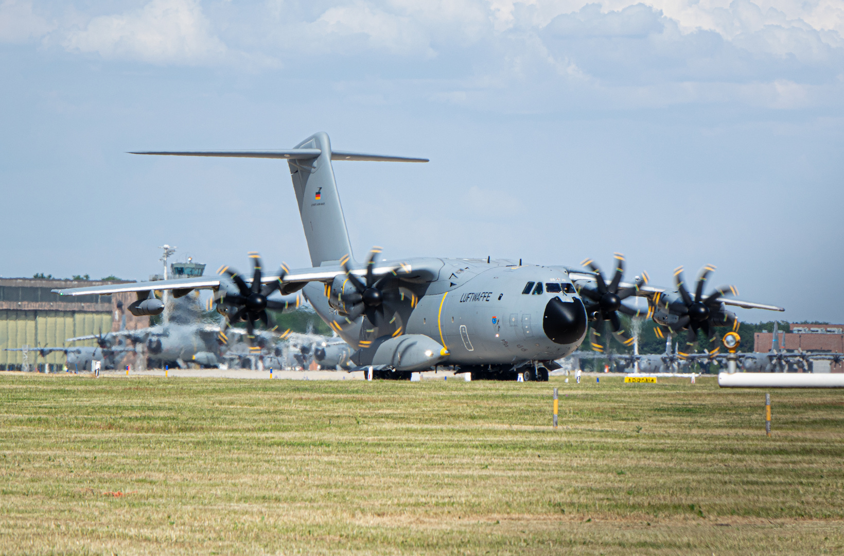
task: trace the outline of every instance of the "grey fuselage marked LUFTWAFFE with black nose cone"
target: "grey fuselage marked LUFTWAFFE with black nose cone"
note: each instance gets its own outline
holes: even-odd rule
[[[402,281],[417,297],[396,316],[399,334],[421,334],[447,349],[441,364],[521,364],[571,354],[586,335],[587,316],[565,270],[477,259],[439,259],[436,280]],[[414,260],[407,263],[413,267]],[[425,259],[431,266],[431,259]],[[365,317],[345,321],[325,289],[306,286],[311,305],[353,346],[367,338]],[[334,323],[334,324],[333,324]]]

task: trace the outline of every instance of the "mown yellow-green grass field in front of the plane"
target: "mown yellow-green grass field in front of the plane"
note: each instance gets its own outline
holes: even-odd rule
[[[584,380],[0,373],[0,553],[844,553],[844,392]]]

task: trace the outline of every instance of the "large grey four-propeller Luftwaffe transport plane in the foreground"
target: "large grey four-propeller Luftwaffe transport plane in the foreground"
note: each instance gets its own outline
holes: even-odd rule
[[[192,289],[214,289],[218,310],[230,321],[246,321],[252,335],[257,321],[269,324],[267,309],[283,308],[283,302],[268,300],[269,294],[301,290],[319,316],[356,348],[354,363],[371,365],[376,376],[406,378],[412,371],[446,364],[478,378],[519,373],[526,380],[547,380],[549,367],[555,368],[554,360],[571,354],[583,342],[588,319],[598,325],[609,321],[614,335],[628,342],[629,335],[616,314],[617,310],[630,310],[622,304],[624,297],[652,298],[665,291],[648,286],[643,278],[623,283],[621,258],[609,285],[596,272],[597,267],[592,267],[592,272],[571,272],[567,267],[523,265],[522,261],[490,257],[378,261],[379,248],[371,251],[361,267],[352,258],[332,161],[427,159],[333,150],[322,132],[285,150],[138,154],[286,160],[312,267],[289,269],[282,265],[278,274],[264,275],[254,256],[251,283],[225,268],[217,278],[62,289],[57,290],[59,294],[134,291],[138,301],[129,310],[154,314],[160,307],[150,296],[153,290],[172,289],[178,297]],[[712,301],[715,299],[718,308],[732,303],[778,309],[720,297]],[[670,314],[674,309],[669,304],[661,310]],[[593,344],[602,342],[601,337],[592,338]]]

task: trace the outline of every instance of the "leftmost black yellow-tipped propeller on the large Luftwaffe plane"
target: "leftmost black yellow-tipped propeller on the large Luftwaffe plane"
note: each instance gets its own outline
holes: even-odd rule
[[[290,306],[299,305],[299,297],[295,301],[277,301],[268,300],[269,294],[275,290],[280,289],[284,276],[287,274],[289,268],[282,264],[279,278],[272,282],[263,285],[261,283],[262,267],[261,257],[257,252],[250,252],[249,258],[252,259],[252,283],[247,284],[237,271],[230,267],[221,267],[218,274],[226,274],[231,278],[237,287],[236,294],[226,294],[225,291],[219,291],[214,296],[214,301],[217,303],[218,310],[223,307],[228,309],[220,311],[226,316],[226,324],[223,330],[219,332],[219,338],[223,343],[228,342],[228,337],[225,335],[225,330],[235,322],[246,321],[246,337],[249,345],[253,346],[255,340],[255,324],[261,322],[265,328],[275,330],[277,328],[272,317],[267,313],[267,310],[285,310]]]

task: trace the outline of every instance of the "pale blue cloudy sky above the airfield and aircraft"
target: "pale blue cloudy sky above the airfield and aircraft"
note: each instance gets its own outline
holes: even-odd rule
[[[334,148],[354,255],[522,258],[844,321],[844,0],[0,0],[0,275],[310,266],[284,162]]]

